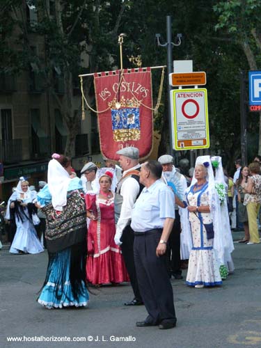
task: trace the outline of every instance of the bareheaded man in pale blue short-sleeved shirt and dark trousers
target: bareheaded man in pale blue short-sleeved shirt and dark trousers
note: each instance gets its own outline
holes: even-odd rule
[[[141,166],[141,183],[145,188],[132,209],[134,260],[141,296],[148,317],[136,326],[175,327],[177,318],[173,289],[167,269],[167,242],[175,219],[174,193],[160,180],[158,161]]]

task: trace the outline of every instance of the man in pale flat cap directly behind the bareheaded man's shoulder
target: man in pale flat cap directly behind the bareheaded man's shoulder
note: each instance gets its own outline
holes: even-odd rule
[[[158,159],[162,166],[162,175],[167,181],[175,184],[177,191],[180,193],[180,200],[183,200],[184,192],[187,189],[187,180],[184,175],[180,174],[175,166],[173,165],[173,157],[171,155],[162,155]],[[173,229],[168,241],[169,245],[169,258],[170,258],[170,268],[171,276],[175,279],[182,279],[182,269],[180,261],[180,214],[179,207],[175,203],[175,221],[173,224]]]

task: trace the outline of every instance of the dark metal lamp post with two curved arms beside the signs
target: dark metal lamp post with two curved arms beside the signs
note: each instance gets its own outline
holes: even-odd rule
[[[160,42],[161,34],[156,34],[157,45],[161,47],[167,47],[167,70],[168,76],[173,72],[173,56],[172,56],[172,48],[173,46],[180,46],[182,34],[177,34],[178,42],[172,42],[172,32],[171,32],[171,16],[166,16],[166,34],[167,41],[165,43]],[[169,152],[170,155],[173,156],[173,139],[172,139],[172,127],[171,127],[171,86],[168,83],[168,128],[169,128]]]

